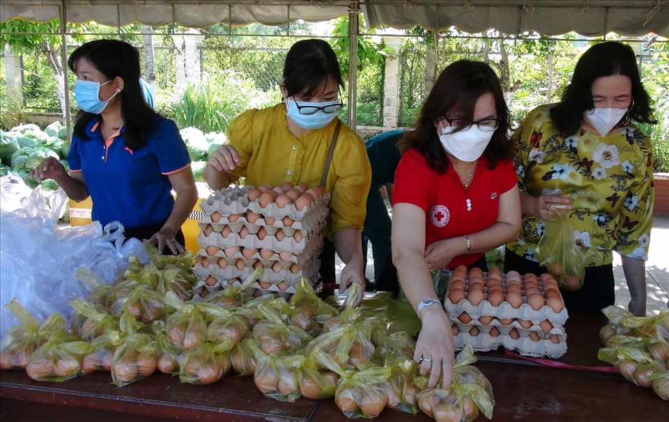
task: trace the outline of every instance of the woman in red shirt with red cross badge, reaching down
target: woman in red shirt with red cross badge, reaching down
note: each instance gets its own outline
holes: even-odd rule
[[[495,72],[457,61],[441,72],[400,141],[392,262],[422,321],[414,359],[436,386],[451,382],[453,334],[430,276],[457,265],[487,270],[484,253],[516,239],[521,205],[509,110]],[[431,306],[434,305],[434,306]]]

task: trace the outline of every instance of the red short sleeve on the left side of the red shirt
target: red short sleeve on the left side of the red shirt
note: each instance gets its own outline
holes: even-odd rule
[[[434,192],[436,192],[436,173],[429,168],[420,153],[408,150],[402,155],[395,170],[393,205],[410,203],[427,212],[434,201]]]

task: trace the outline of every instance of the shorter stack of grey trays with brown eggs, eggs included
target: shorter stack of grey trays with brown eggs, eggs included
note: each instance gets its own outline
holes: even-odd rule
[[[459,267],[450,275],[444,303],[454,332],[475,350],[504,345],[530,356],[550,357],[567,350],[567,309],[550,274],[521,277],[496,268],[486,274],[479,268],[467,272]]]

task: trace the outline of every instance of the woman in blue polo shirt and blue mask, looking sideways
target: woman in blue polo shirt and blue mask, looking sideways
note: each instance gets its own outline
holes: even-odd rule
[[[148,239],[162,253],[184,251],[181,225],[197,202],[185,143],[172,120],[149,107],[139,84],[139,51],[95,40],[68,59],[77,75],[70,174],[47,158],[32,171],[51,178],[74,201],[91,196],[93,220],[120,221],[126,237]],[[176,192],[176,199],[171,191]]]

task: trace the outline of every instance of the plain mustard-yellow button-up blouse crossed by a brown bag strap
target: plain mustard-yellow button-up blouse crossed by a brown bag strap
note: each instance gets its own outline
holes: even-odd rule
[[[245,111],[228,128],[230,145],[240,159],[231,175],[245,176],[246,184],[254,186],[285,182],[319,185],[336,123],[334,119],[321,129],[293,136],[284,104]],[[370,183],[371,166],[364,142],[351,128],[341,125],[324,186],[332,196],[324,236],[350,227],[362,230]]]

